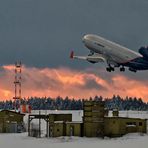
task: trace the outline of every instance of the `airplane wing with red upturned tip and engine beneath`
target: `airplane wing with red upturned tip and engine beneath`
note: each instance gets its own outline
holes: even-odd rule
[[[71,59],[80,59],[80,60],[87,60],[91,63],[98,63],[98,62],[105,62],[106,59],[101,55],[101,54],[93,54],[93,55],[88,55],[88,56],[76,56],[74,55],[74,52],[72,51],[70,53],[70,58]]]

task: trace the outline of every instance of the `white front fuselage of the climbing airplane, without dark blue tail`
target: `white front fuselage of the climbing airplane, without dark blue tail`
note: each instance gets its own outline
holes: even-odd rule
[[[141,54],[133,50],[97,35],[85,35],[83,37],[83,42],[91,51],[102,54],[108,62],[126,63],[138,57],[142,57]]]

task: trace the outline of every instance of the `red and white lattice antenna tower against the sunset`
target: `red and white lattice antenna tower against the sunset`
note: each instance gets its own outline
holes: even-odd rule
[[[16,62],[15,63],[15,80],[14,80],[14,94],[15,96],[13,97],[13,99],[15,100],[15,111],[20,107],[21,105],[21,93],[22,93],[22,63],[21,62]],[[18,101],[17,101],[18,100]],[[18,106],[17,103],[18,102]]]

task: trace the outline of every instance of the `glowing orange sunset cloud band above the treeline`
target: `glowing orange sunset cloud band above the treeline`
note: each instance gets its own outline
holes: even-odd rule
[[[106,73],[106,72],[104,72]],[[14,96],[14,66],[2,67],[0,75],[0,98]],[[35,68],[23,66],[22,96],[51,96],[89,98],[95,95],[112,97],[141,97],[148,101],[148,81],[129,78],[121,74],[103,76],[93,70],[73,70],[70,68]]]

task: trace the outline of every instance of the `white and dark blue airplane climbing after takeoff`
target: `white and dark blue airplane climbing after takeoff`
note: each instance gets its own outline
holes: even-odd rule
[[[90,53],[87,56],[76,56],[72,51],[71,59],[87,60],[90,63],[106,62],[108,72],[115,71],[116,67],[121,72],[125,71],[125,67],[132,72],[148,70],[148,47],[141,47],[139,52],[135,52],[93,34],[85,35],[82,41]]]

